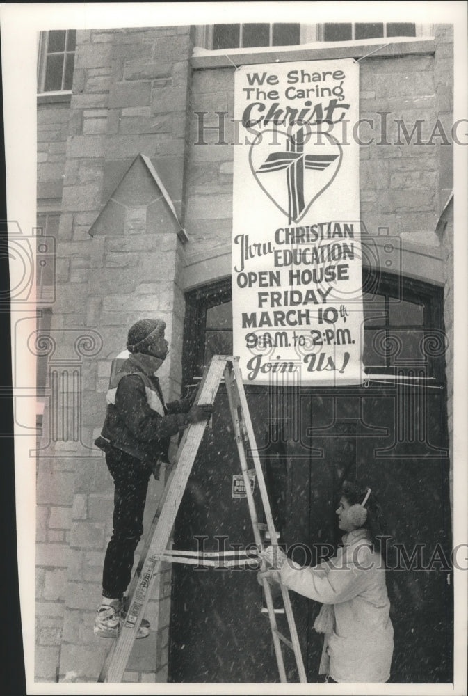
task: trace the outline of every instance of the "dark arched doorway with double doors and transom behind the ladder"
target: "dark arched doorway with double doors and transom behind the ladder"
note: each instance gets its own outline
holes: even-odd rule
[[[230,278],[186,296],[184,382],[215,353],[232,351]],[[442,290],[382,274],[364,294],[369,382],[296,390],[248,386],[280,541],[311,549],[337,544],[336,492],[360,478],[378,493],[392,537],[394,683],[452,679],[451,515]],[[372,374],[378,375],[372,379]],[[384,376],[384,377],[382,377]],[[392,379],[385,379],[385,377]],[[175,547],[197,550],[252,541],[245,500],[232,497],[239,462],[223,387],[175,526]],[[325,546],[323,546],[325,548]],[[292,594],[307,679],[319,681],[318,605]],[[277,681],[261,588],[252,571],[173,568],[170,681]],[[278,622],[283,621],[278,616]],[[287,632],[287,629],[284,629]],[[297,679],[288,659],[289,679]]]

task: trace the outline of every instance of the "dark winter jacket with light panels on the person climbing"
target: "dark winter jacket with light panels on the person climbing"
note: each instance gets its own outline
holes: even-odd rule
[[[170,438],[186,427],[190,400],[165,404],[159,379],[147,374],[131,354],[113,378],[107,395],[107,411],[102,438],[113,447],[155,466],[168,461]],[[99,444],[99,438],[96,441]]]

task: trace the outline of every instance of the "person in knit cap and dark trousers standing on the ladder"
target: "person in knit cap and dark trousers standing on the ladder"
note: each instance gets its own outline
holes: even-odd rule
[[[208,420],[213,406],[193,406],[191,399],[164,402],[156,370],[168,355],[165,322],[141,319],[128,333],[129,358],[113,377],[107,394],[102,435],[95,444],[106,454],[113,477],[113,533],[102,573],[102,602],[94,632],[116,638],[122,624],[124,592],[131,579],[134,553],[143,534],[143,512],[148,481],[159,477],[161,461],[168,461],[170,438],[191,423]],[[145,638],[143,620],[137,638]]]

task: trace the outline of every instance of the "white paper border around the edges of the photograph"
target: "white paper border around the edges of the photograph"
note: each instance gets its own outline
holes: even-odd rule
[[[261,21],[268,5],[268,19],[272,21],[302,21],[309,23],[401,19],[420,24],[453,23],[455,27],[455,112],[454,120],[467,118],[467,6],[465,2],[276,2],[276,3],[69,3],[22,4],[7,3],[0,7],[0,27],[3,58],[4,122],[6,133],[6,170],[8,218],[17,219],[25,233],[35,226],[35,113],[36,113],[36,50],[37,32],[45,29],[96,29],[123,26],[155,26],[156,24],[209,24],[217,22]],[[157,21],[159,20],[159,21]],[[312,24],[312,21],[310,22]],[[455,148],[455,523],[454,544],[467,541],[467,476],[468,451],[467,413],[467,360],[466,360],[466,297],[467,293],[467,152]],[[14,278],[12,278],[14,283]],[[13,357],[19,351],[12,347]],[[34,383],[33,365],[24,365]],[[17,413],[20,420],[30,414]],[[17,535],[20,592],[24,627],[26,679],[29,694],[81,693],[345,693],[339,686],[297,684],[278,685],[177,685],[177,684],[83,684],[34,683],[34,592],[35,545],[35,475],[25,475],[21,462],[28,461],[31,443],[18,438],[15,443],[17,481]],[[35,472],[34,472],[35,473]],[[346,693],[360,694],[466,694],[467,675],[467,573],[458,572],[455,578],[455,687],[431,684],[369,685]],[[4,598],[5,599],[5,598]],[[8,632],[8,627],[5,627]]]

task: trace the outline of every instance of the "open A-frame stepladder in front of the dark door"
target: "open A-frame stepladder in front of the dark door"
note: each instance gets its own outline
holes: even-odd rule
[[[250,419],[250,412],[248,409],[247,399],[245,397],[241,368],[239,367],[239,358],[235,356],[213,356],[209,367],[207,367],[207,370],[204,372],[202,381],[198,388],[195,403],[212,404],[223,377],[225,378],[229,409],[231,411],[232,422],[234,425],[234,436],[237,450],[239,452],[239,459],[241,461],[241,470],[243,474],[250,519],[252,520],[253,535],[257,548],[261,548],[263,542],[261,539],[260,530],[264,530],[266,528],[273,543],[277,539],[277,534],[275,531],[275,525],[273,523],[273,516],[271,514],[271,507],[268,500],[268,493],[266,491],[263,470],[261,469],[261,462],[252,427],[252,420]],[[138,568],[136,569],[136,573],[129,587],[129,591],[133,591],[133,594],[131,595],[127,617],[125,618],[122,628],[120,629],[120,635],[118,636],[117,640],[113,642],[113,647],[111,648],[104,666],[102,667],[102,672],[98,679],[99,682],[122,681],[125,668],[127,667],[127,663],[129,661],[131,649],[136,640],[138,628],[140,628],[140,623],[143,619],[147,602],[150,599],[154,580],[161,562],[187,562],[186,559],[181,560],[181,557],[183,558],[184,554],[186,556],[191,555],[190,552],[173,551],[169,550],[167,547],[170,540],[172,527],[175,522],[175,517],[177,515],[182,496],[184,495],[188,477],[191,473],[206,425],[207,424],[205,421],[193,423],[186,429],[184,435],[182,436],[181,443],[175,457],[174,467],[170,473],[168,483],[166,484],[166,488],[164,489],[163,496],[161,497],[161,501],[158,506],[158,510],[156,510],[156,514],[154,516],[152,528],[150,529],[150,533],[147,537],[149,539],[147,550],[144,552],[142,559],[138,564]],[[261,503],[264,508],[266,524],[260,523],[257,519],[255,501],[252,489],[250,488],[250,471],[248,470],[247,465],[245,445],[248,445],[249,454],[252,456],[254,461],[254,470],[259,484]],[[242,552],[240,553],[242,555]],[[238,561],[237,563],[248,563],[249,560],[250,559],[248,557],[244,557],[243,560]],[[197,558],[196,562],[200,563],[202,561],[200,558]],[[224,562],[227,567],[229,567],[229,564],[231,563],[231,561]],[[211,563],[208,562],[208,564]],[[263,587],[271,635],[273,638],[273,647],[275,649],[275,656],[280,674],[280,681],[282,683],[287,683],[281,647],[281,643],[284,643],[287,645],[287,647],[293,650],[296,658],[300,683],[307,683],[296,623],[294,621],[291,599],[289,597],[287,587],[280,585],[291,640],[286,638],[286,636],[282,635],[282,633],[278,631],[275,610],[273,608],[271,587],[267,580],[263,581]]]

